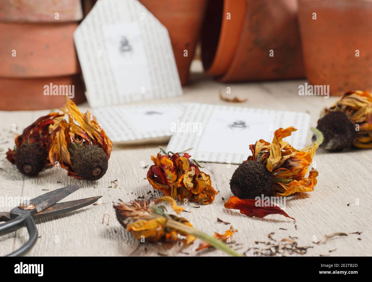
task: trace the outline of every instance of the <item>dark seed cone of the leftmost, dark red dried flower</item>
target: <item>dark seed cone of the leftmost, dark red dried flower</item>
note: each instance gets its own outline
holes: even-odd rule
[[[24,175],[38,175],[46,163],[47,152],[36,143],[22,145],[15,155],[17,169]]]

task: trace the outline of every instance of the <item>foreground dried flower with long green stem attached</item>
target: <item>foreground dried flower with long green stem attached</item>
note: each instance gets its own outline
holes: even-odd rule
[[[183,243],[189,244],[196,238],[202,239],[229,255],[240,256],[237,252],[214,237],[211,237],[195,228],[186,218],[168,214],[166,207],[161,202],[168,202],[177,214],[183,211],[177,206],[176,201],[169,197],[148,200],[134,200],[129,203],[123,201],[114,205],[119,223],[138,240],[145,239],[150,242],[160,240],[178,240],[183,236]]]

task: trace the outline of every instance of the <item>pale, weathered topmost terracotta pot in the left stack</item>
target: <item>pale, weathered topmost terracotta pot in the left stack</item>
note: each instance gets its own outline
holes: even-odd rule
[[[58,20],[55,13],[58,13]],[[71,22],[83,19],[80,0],[1,0],[1,22]]]

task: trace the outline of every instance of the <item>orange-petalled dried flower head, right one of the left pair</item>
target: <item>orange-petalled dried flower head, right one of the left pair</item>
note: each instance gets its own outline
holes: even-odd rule
[[[83,115],[67,98],[61,111],[68,115],[55,130],[49,159],[67,169],[68,175],[87,180],[101,178],[108,168],[112,142],[89,111]]]

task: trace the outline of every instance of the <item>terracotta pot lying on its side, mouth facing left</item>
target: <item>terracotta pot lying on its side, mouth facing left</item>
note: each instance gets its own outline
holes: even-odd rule
[[[217,2],[210,0],[209,5],[219,5],[215,9],[222,21],[221,26],[215,25],[215,28],[221,32],[209,32],[208,20],[202,32],[202,58],[207,72],[222,82],[305,76],[296,0],[246,0],[245,3],[239,1],[238,7],[233,6],[236,4],[233,0]],[[207,9],[207,13],[212,10]],[[226,19],[228,10],[232,11],[230,20]],[[229,43],[231,46],[227,46]],[[269,56],[270,50],[273,56]],[[224,54],[226,52],[230,55]]]

